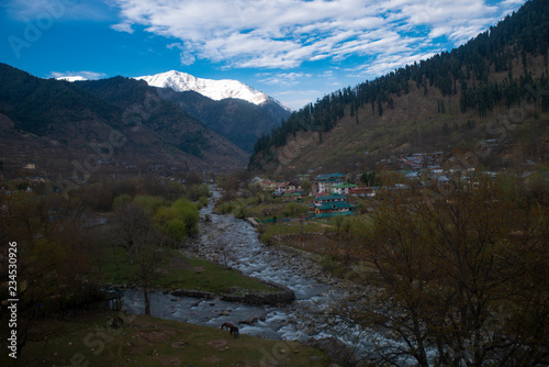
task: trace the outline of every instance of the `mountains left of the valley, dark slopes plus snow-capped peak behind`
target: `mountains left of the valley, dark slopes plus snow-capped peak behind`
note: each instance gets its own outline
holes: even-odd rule
[[[32,163],[41,175],[82,176],[75,167],[98,160],[98,148],[109,151],[113,132],[124,144],[99,155],[104,173],[244,168],[257,138],[290,114],[239,81],[178,71],[56,80],[0,64],[0,167],[10,173]]]

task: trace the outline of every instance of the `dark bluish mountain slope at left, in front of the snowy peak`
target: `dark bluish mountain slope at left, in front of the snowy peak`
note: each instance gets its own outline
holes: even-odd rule
[[[117,77],[71,84],[40,79],[5,64],[0,64],[0,80],[4,169],[30,162],[47,175],[74,174],[75,165],[88,167],[88,173],[99,165],[104,171],[121,171],[122,166],[146,170],[159,164],[227,169],[246,159],[242,149],[161,100],[143,81]],[[98,164],[100,152],[107,153]]]

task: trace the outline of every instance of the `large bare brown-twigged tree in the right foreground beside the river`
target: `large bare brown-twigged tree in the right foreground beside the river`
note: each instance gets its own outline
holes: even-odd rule
[[[446,196],[385,190],[352,253],[380,280],[350,313],[389,336],[370,357],[547,364],[547,202],[505,201],[486,180]]]

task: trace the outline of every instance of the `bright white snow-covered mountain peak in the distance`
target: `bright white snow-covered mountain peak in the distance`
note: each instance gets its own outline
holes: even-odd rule
[[[135,79],[145,80],[152,87],[171,88],[175,91],[193,90],[202,96],[220,101],[225,98],[237,98],[250,103],[261,105],[266,102],[274,102],[283,109],[291,109],[282,105],[273,98],[238,81],[232,79],[202,79],[190,74],[170,70],[167,73],[137,77]]]

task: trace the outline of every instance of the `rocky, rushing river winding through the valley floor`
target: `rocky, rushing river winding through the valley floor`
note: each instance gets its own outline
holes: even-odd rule
[[[219,197],[214,191],[214,200]],[[212,212],[214,200],[200,210],[201,218],[210,215],[210,222],[201,222],[200,233],[189,243],[188,255],[200,256],[240,270],[243,274],[266,281],[287,286],[296,300],[283,307],[249,305],[221,301],[173,297],[156,292],[152,294],[152,315],[200,325],[220,327],[225,322],[238,324],[257,318],[251,324],[240,323],[240,333],[271,340],[321,338],[340,336],[340,331],[326,327],[311,333],[305,326],[343,290],[314,262],[294,251],[268,246],[258,238],[256,229],[244,220],[228,214]],[[322,279],[320,281],[318,279]],[[126,290],[124,304],[130,312],[143,313],[143,293]],[[361,331],[357,331],[360,333]],[[348,343],[348,341],[346,341]],[[361,348],[368,348],[362,341]]]

